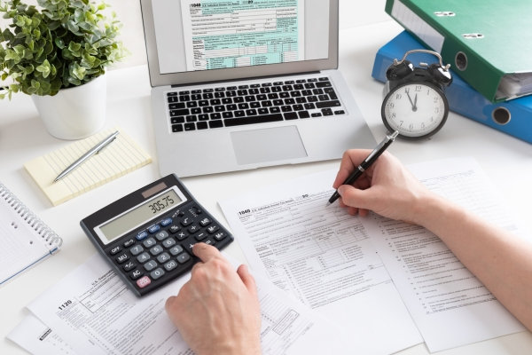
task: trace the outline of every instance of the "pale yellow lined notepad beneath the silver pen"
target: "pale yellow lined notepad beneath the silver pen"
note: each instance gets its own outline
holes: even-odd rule
[[[119,130],[120,134],[111,144],[98,154],[92,155],[66,177],[53,182],[61,171],[115,130]],[[152,162],[152,157],[123,130],[114,127],[35,158],[24,164],[24,168],[43,190],[51,204],[57,206],[59,203],[86,193],[149,162]]]

